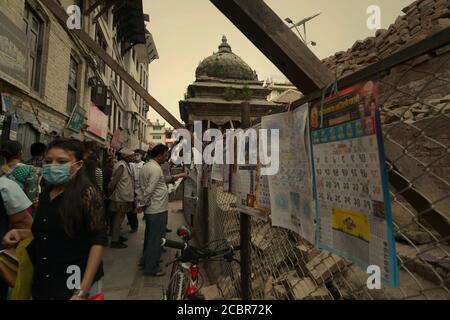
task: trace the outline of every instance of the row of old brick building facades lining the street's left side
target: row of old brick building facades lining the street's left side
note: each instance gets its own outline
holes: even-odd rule
[[[59,2],[65,11],[74,3]],[[148,89],[149,64],[158,58],[151,34],[130,45],[118,36],[114,6],[100,2],[86,15],[94,1],[75,3],[82,29]],[[0,2],[0,93],[1,140],[21,142],[26,157],[33,142],[58,137],[105,150],[147,144],[148,106],[38,0]]]

